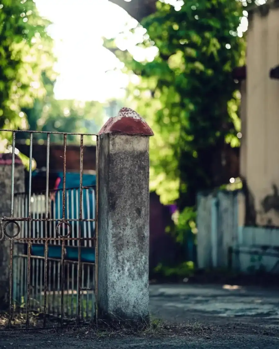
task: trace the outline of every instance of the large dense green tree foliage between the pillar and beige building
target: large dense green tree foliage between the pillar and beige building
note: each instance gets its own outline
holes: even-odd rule
[[[151,187],[163,203],[178,199],[183,210],[195,205],[197,191],[222,184],[223,146],[238,145],[240,96],[232,69],[244,64],[244,39],[237,35],[243,5],[234,0],[185,1],[178,10],[156,5],[141,21],[146,34],[138,43],[146,52],[157,47],[154,60],[138,62],[113,40],[105,46],[139,77],[129,93],[155,133]],[[191,211],[185,211],[188,220]]]

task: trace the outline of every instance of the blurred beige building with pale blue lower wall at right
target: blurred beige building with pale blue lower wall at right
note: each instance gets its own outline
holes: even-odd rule
[[[248,12],[241,90],[239,191],[199,193],[199,268],[279,273],[279,3]]]

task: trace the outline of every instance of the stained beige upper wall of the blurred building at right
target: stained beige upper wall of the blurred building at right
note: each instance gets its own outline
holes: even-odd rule
[[[241,172],[254,198],[256,223],[279,226],[279,196],[273,190],[279,188],[279,80],[269,77],[279,65],[279,9],[249,18],[247,42]]]

